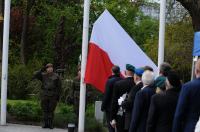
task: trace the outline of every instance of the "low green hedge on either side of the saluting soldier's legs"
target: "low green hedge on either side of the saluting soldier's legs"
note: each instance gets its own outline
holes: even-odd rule
[[[7,104],[8,113],[20,122],[41,122],[42,110],[40,103],[26,100],[9,100]],[[65,104],[58,104],[54,125],[60,128],[66,128],[68,123],[75,122],[73,107]]]

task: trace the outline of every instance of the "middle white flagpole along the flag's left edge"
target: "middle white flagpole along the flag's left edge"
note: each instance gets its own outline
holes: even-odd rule
[[[80,85],[80,104],[79,104],[79,125],[78,132],[84,132],[85,126],[85,100],[86,100],[86,84],[84,83],[85,70],[88,53],[88,32],[89,32],[89,12],[90,0],[84,0],[84,16],[83,16],[83,36],[82,36],[82,61],[81,61],[81,85]]]

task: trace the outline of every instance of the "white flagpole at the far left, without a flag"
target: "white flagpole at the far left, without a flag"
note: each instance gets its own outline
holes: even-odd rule
[[[5,0],[4,8],[3,56],[1,76],[1,125],[6,125],[10,2],[11,0]]]

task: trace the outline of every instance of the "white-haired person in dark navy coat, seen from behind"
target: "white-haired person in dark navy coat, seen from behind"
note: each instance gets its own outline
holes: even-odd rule
[[[129,132],[146,132],[151,96],[155,94],[155,89],[151,87],[154,83],[154,73],[145,71],[142,75],[142,82],[144,86],[135,96]]]

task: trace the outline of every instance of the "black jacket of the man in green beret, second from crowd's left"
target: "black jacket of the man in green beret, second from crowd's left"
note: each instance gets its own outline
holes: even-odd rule
[[[118,81],[114,85],[112,104],[111,104],[111,118],[116,119],[119,109],[118,99],[125,93],[129,93],[131,88],[135,86],[133,77],[125,78]]]

